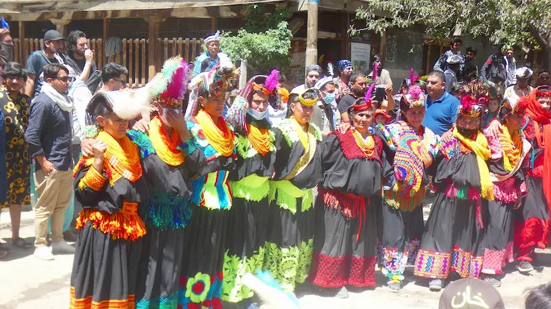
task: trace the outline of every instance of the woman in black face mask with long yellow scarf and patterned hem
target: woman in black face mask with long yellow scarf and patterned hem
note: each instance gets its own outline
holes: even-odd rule
[[[413,268],[415,276],[430,279],[431,290],[442,289],[451,272],[479,277],[484,262],[483,206],[484,200],[494,200],[494,191],[478,95],[464,93],[453,135],[440,144],[433,163],[436,194]]]

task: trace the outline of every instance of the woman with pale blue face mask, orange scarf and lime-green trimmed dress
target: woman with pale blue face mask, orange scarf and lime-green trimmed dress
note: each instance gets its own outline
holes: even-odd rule
[[[226,115],[235,129],[237,160],[228,181],[233,193],[228,218],[222,300],[250,304],[252,291],[242,279],[264,266],[265,246],[270,225],[270,176],[274,173],[275,148],[270,135],[268,105],[279,102],[279,71],[270,76],[254,76],[241,91]],[[225,306],[224,306],[225,307]]]

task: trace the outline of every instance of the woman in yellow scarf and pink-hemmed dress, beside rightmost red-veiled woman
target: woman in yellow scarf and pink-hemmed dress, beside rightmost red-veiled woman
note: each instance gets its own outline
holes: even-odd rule
[[[524,138],[521,128],[529,103],[528,96],[512,107],[507,100],[499,108],[498,119],[501,130],[494,134],[484,130],[491,151],[488,161],[490,176],[494,183],[495,201],[488,201],[486,231],[482,238],[484,281],[492,286],[501,286],[500,275],[504,266],[513,262],[513,218],[522,198],[528,194],[524,171],[521,167],[530,151],[530,143]]]

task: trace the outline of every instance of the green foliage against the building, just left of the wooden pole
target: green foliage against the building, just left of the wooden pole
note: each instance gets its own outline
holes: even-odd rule
[[[292,33],[283,21],[274,29],[266,32],[253,33],[241,29],[237,36],[224,32],[220,48],[234,62],[241,59],[248,61],[248,66],[255,73],[269,73],[270,69],[288,69],[291,64],[289,50],[291,49]]]

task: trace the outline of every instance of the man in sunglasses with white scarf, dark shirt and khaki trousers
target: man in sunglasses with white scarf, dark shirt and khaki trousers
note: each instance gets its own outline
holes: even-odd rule
[[[43,69],[41,93],[30,105],[25,141],[34,162],[34,185],[38,201],[34,209],[34,255],[54,260],[52,253],[74,253],[63,240],[63,218],[71,203],[73,103],[67,96],[69,70],[58,63]],[[52,251],[47,246],[47,220],[51,218]]]

